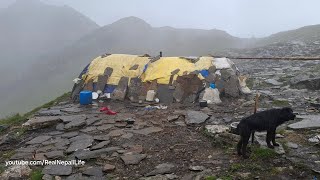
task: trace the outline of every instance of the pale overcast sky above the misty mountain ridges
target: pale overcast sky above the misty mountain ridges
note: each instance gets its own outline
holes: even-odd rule
[[[43,1],[69,5],[100,25],[136,16],[155,27],[221,29],[239,37],[262,37],[320,24],[319,0]]]

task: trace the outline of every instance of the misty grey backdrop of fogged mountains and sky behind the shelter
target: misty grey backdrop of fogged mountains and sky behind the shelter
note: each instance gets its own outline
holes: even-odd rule
[[[320,21],[317,5],[315,0],[1,0],[0,117],[70,91],[82,68],[106,52],[200,56],[309,42],[320,33],[314,25]]]

